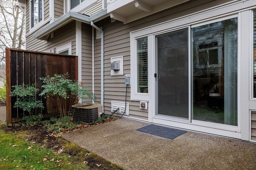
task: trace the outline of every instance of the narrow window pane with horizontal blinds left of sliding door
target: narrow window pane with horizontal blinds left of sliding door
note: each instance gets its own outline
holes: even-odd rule
[[[137,40],[138,93],[148,93],[148,38]]]

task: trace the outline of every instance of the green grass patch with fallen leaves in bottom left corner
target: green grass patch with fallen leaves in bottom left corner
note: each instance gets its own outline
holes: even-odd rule
[[[2,131],[0,155],[0,169],[6,170],[89,169],[85,162],[73,164],[66,154],[53,152]]]

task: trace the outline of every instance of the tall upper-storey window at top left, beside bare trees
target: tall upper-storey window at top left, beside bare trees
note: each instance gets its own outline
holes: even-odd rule
[[[42,21],[43,17],[43,0],[31,0],[31,28]]]

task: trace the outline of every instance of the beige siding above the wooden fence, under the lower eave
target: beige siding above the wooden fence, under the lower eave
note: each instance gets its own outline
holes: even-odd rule
[[[48,41],[34,39],[33,34],[29,35],[26,39],[26,49],[32,51],[49,51],[56,47],[60,47],[67,43],[72,42],[72,55],[76,55],[75,42],[76,42],[76,25],[75,21],[68,23],[64,27],[54,31],[54,37],[48,38]]]

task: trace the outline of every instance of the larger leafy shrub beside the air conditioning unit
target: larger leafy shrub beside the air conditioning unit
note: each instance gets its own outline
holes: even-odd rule
[[[84,96],[88,96],[90,100],[95,100],[95,96],[89,90],[82,87],[82,83],[71,80],[69,74],[54,74],[53,77],[47,76],[40,78],[43,84],[42,88],[44,90],[41,92],[40,96],[45,96],[47,98],[55,98],[58,103],[58,108],[60,111],[60,117],[66,116],[66,113],[71,108],[71,100],[69,106],[67,106],[67,99],[76,99],[76,102],[80,101]],[[68,107],[68,109],[67,109]]]

